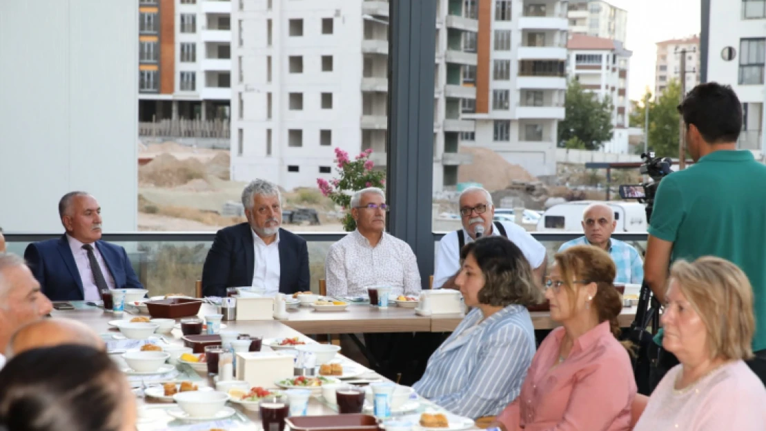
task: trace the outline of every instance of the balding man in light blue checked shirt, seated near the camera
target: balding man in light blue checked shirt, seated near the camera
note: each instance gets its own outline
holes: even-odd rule
[[[643,282],[643,261],[638,250],[628,243],[612,239],[612,233],[617,222],[614,221],[614,211],[607,204],[590,204],[582,216],[584,237],[564,243],[558,253],[572,246],[591,245],[604,249],[617,266],[614,282],[641,284]]]

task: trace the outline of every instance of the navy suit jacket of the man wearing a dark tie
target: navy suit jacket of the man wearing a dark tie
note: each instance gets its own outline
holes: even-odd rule
[[[133,271],[128,253],[123,247],[96,241],[96,248],[106,263],[106,269],[112,275],[116,289],[143,289]],[[41,284],[42,292],[51,301],[82,301],[83,280],[77,263],[74,262],[72,249],[67,236],[58,240],[45,240],[31,243],[24,252],[24,259]]]

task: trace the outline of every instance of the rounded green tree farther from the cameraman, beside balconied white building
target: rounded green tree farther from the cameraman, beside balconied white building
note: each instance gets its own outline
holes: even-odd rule
[[[599,100],[596,93],[584,90],[577,80],[571,80],[564,106],[564,121],[558,123],[560,146],[571,148],[566,145],[578,144],[571,141],[576,138],[584,145],[583,149],[596,150],[612,139],[613,106],[609,97]]]

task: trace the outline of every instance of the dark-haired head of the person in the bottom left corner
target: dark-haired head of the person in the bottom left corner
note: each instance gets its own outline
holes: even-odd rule
[[[15,356],[0,371],[0,429],[135,431],[136,400],[103,351],[63,344]]]

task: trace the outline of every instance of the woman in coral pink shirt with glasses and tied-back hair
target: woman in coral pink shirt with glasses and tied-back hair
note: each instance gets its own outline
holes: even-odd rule
[[[617,341],[622,302],[607,252],[575,246],[555,256],[546,281],[551,318],[518,398],[497,416],[503,431],[630,429],[636,395],[626,348]]]

